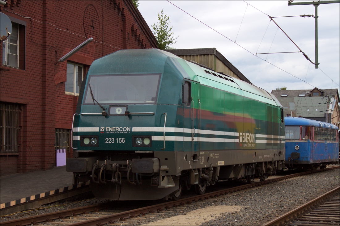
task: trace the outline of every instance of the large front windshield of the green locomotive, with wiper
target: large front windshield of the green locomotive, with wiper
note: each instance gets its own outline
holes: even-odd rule
[[[155,104],[160,74],[90,75],[88,83],[101,104]],[[86,86],[83,104],[93,104]]]

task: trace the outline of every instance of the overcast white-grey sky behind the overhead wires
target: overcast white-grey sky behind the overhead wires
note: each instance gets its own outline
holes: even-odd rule
[[[309,63],[302,53],[257,55],[266,59],[267,62],[252,54],[299,51],[285,34],[277,29],[275,23],[270,22],[266,14],[272,17],[314,15],[313,5],[288,6],[288,1],[246,1],[249,3],[248,6],[244,1],[171,2],[232,40],[230,41],[206,27],[167,1],[139,0],[138,9],[150,28],[152,24],[157,23],[157,15],[162,8],[164,14],[170,17],[174,36],[179,36],[176,39],[176,44],[172,46],[173,48],[215,47],[254,85],[269,92],[283,86],[286,86],[287,89],[310,90],[313,87],[338,88],[336,84],[339,84],[339,4],[320,4],[318,6],[319,68],[331,78],[329,79],[320,69],[316,69]],[[273,19],[315,62],[314,18],[283,17]],[[236,45],[235,40],[236,44],[251,53]],[[287,72],[311,85],[296,79]],[[332,83],[332,80],[336,84]]]

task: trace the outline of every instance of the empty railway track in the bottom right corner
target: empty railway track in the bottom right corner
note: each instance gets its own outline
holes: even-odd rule
[[[340,186],[262,226],[340,225]]]

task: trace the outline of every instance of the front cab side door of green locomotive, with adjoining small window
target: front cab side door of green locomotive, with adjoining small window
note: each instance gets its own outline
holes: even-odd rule
[[[200,84],[184,81],[182,99],[184,108],[184,152],[189,159],[197,161],[200,155]],[[189,154],[190,153],[190,154]]]

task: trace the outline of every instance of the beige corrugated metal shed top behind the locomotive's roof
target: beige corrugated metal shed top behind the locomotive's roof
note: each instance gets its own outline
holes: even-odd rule
[[[192,60],[203,64],[216,72],[223,72],[226,75],[243,80],[252,84],[232,63],[230,63],[216,48],[204,49],[173,49],[165,50],[173,53],[182,59]]]

